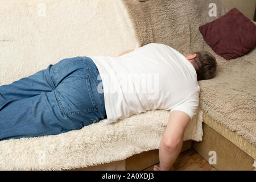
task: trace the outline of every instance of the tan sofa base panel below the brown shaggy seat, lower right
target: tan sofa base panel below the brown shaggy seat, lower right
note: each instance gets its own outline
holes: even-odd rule
[[[247,155],[235,144],[230,142],[215,130],[203,123],[204,136],[202,142],[192,142],[192,147],[199,152],[204,159],[209,160],[212,155],[210,151],[216,151],[216,164],[213,166],[218,170],[254,170],[252,166],[254,159]]]

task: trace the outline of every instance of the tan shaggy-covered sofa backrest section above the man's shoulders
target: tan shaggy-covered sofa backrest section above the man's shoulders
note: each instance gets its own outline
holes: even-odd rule
[[[163,43],[181,53],[203,49],[199,26],[227,12],[220,0],[123,0],[123,3],[140,46],[152,42]],[[212,11],[216,14],[210,16],[209,11],[210,15]]]

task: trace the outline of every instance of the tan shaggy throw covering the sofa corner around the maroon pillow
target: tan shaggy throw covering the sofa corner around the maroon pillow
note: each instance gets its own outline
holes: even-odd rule
[[[141,46],[163,43],[183,54],[209,51],[217,58],[217,76],[199,81],[200,108],[256,146],[256,50],[226,61],[204,42],[198,28],[227,9],[220,0],[123,0]],[[208,15],[216,3],[217,16]],[[139,12],[139,13],[138,13]]]

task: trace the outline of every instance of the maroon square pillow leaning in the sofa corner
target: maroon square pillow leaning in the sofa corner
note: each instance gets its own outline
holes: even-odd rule
[[[243,56],[256,45],[256,25],[236,8],[199,30],[213,51],[226,60]]]

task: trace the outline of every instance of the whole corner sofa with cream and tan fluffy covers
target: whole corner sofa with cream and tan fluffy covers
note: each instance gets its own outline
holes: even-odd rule
[[[208,15],[210,2],[216,3],[217,16]],[[221,1],[0,3],[0,85],[67,57],[117,56],[148,43],[164,43],[183,54],[209,51],[217,59],[217,76],[199,82],[200,107],[185,131],[183,151],[193,147],[207,160],[209,151],[216,151],[213,166],[219,170],[255,168],[255,49],[226,61],[198,30],[228,11]],[[0,169],[146,169],[159,161],[168,115],[168,111],[150,110],[112,125],[100,121],[59,135],[3,140]]]

